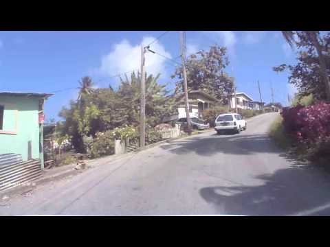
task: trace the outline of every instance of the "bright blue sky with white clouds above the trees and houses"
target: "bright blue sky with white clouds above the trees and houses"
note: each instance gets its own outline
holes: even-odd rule
[[[94,78],[96,86],[118,85],[113,75],[140,68],[140,45],[151,43],[164,31],[148,32],[0,32],[0,91],[51,93],[45,104],[46,119],[58,118],[62,106],[76,99],[78,80]],[[276,74],[272,67],[296,63],[295,51],[285,43],[281,32],[186,32],[187,54],[208,49],[217,43],[228,47],[230,67],[237,91],[259,100],[257,80],[263,101],[287,104],[287,93],[294,88],[287,83],[288,73]],[[168,32],[151,49],[169,58],[179,56],[179,34]],[[177,59],[179,62],[179,58]],[[175,85],[170,79],[173,62],[156,54],[146,54],[146,71],[162,73],[161,82]],[[67,89],[67,90],[65,90]]]

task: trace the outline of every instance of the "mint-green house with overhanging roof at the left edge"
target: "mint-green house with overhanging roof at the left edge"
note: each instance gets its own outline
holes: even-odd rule
[[[43,167],[43,104],[51,95],[0,92],[0,155],[40,159]]]

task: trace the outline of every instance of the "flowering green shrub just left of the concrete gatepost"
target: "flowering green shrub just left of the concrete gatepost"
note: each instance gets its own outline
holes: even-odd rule
[[[100,156],[113,154],[114,148],[113,131],[98,132],[96,133],[96,138],[94,138],[91,143],[89,154],[91,158],[98,158]]]

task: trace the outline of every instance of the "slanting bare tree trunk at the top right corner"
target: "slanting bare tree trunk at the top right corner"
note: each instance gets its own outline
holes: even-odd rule
[[[325,89],[327,93],[327,100],[330,101],[330,80],[327,73],[327,66],[325,64],[325,57],[322,54],[322,47],[320,43],[318,42],[318,36],[315,31],[308,31],[309,37],[311,38],[311,41],[313,42],[314,47],[316,48],[316,51],[318,52],[318,60],[320,62],[320,73],[323,79],[323,82],[325,83]]]

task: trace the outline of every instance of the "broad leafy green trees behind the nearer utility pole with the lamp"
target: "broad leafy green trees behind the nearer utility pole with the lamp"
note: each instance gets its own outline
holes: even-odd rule
[[[166,84],[159,84],[159,75],[146,76],[146,123],[155,126],[162,118],[176,109],[174,99],[168,97]],[[89,84],[91,85],[91,84]],[[121,126],[138,126],[140,123],[140,75],[120,78],[117,91],[111,87],[82,91],[79,100],[63,107],[60,117],[61,134],[68,134],[78,152],[86,152],[87,137],[97,137],[98,132],[106,132]]]

